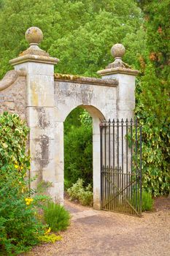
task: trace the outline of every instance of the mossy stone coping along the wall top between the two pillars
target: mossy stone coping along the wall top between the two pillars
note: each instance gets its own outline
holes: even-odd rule
[[[78,75],[54,74],[55,81],[64,81],[69,83],[85,83],[96,86],[110,86],[116,87],[118,85],[117,79],[101,79],[101,78],[88,78]]]

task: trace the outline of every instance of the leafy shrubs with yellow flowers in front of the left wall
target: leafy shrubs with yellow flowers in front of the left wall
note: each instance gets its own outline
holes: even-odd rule
[[[18,255],[39,243],[45,226],[36,209],[45,197],[31,198],[26,181],[28,128],[17,115],[0,115],[0,254]]]

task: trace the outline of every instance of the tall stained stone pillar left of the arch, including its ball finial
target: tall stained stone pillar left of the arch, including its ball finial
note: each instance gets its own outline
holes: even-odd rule
[[[15,70],[25,70],[26,112],[30,127],[31,178],[37,176],[31,187],[36,188],[39,181],[51,186],[47,194],[57,200],[57,177],[55,175],[55,101],[54,65],[58,59],[52,58],[39,48],[43,35],[39,28],[26,31],[30,47],[16,59],[9,61]]]

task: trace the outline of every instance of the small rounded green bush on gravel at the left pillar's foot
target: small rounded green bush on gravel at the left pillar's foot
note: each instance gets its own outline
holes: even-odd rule
[[[63,206],[53,202],[47,203],[44,219],[52,231],[66,230],[70,223],[69,212]]]

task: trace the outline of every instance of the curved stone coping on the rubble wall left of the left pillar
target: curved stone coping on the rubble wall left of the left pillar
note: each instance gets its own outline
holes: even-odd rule
[[[4,75],[4,78],[0,80],[0,91],[7,89],[12,83],[15,83],[19,76],[26,76],[26,72],[23,70],[9,70],[6,75]]]

